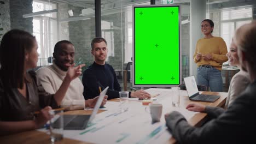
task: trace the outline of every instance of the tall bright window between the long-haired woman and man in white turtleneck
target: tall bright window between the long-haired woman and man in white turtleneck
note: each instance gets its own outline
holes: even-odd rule
[[[55,3],[38,0],[34,0],[32,5],[33,13],[57,8]],[[36,36],[38,42],[39,60],[37,65],[48,65],[47,59],[53,55],[54,45],[57,43],[57,13],[34,16],[33,35]]]

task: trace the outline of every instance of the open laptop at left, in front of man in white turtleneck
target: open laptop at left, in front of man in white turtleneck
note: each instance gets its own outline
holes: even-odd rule
[[[91,115],[63,115],[63,129],[85,129],[89,123],[91,123],[92,119],[95,118],[98,109],[101,106],[101,103],[106,95],[108,87],[106,87],[101,93],[100,97],[97,100],[96,105],[94,106],[94,110]],[[60,119],[56,119],[53,123],[53,127],[57,128],[57,123]]]

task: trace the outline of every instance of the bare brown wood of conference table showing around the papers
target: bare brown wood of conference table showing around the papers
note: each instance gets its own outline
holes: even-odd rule
[[[193,103],[201,103],[203,105],[208,106],[219,106],[224,107],[226,97],[228,93],[224,92],[203,92],[203,94],[214,94],[214,95],[220,95],[220,98],[215,101],[214,103],[206,103],[206,102],[195,102]],[[188,96],[184,96],[183,98],[184,104],[181,105],[183,107],[187,106],[191,101],[188,99]],[[112,99],[110,101],[119,101],[119,99]],[[137,102],[137,101],[136,101]],[[137,102],[138,103],[138,102]],[[75,111],[67,111],[66,114],[73,114],[73,115],[89,115],[92,112],[92,110],[75,110]],[[98,113],[104,112],[103,110],[99,110]],[[163,113],[165,114],[165,113]],[[192,118],[189,119],[189,124],[199,127],[203,122],[207,119],[206,113],[196,113]],[[43,133],[41,131],[32,130],[32,131],[25,131],[22,133],[14,134],[14,135],[8,135],[8,136],[0,136],[0,142],[1,143],[50,143],[50,135]],[[175,140],[173,137],[170,138],[167,143],[174,143]],[[78,140],[72,140],[64,138],[63,140],[56,142],[56,143],[87,143],[83,141]]]

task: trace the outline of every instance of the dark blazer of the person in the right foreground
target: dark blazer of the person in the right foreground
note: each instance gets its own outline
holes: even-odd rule
[[[228,110],[206,107],[212,118],[202,127],[191,127],[181,113],[174,111],[166,120],[168,130],[179,143],[256,142],[256,81],[234,100]]]

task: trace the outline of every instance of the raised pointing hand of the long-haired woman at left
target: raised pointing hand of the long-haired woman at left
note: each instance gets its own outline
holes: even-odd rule
[[[66,79],[72,81],[78,76],[82,74],[82,68],[85,66],[85,64],[80,64],[77,67],[74,67],[75,63],[71,65],[71,67],[68,68]]]

